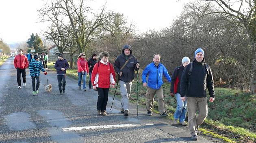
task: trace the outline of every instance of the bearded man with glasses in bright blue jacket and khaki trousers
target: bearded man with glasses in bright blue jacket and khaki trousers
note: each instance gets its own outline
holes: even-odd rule
[[[163,99],[163,76],[165,76],[168,82],[171,82],[171,77],[169,76],[165,66],[160,63],[160,58],[161,55],[159,54],[153,55],[153,62],[147,65],[142,72],[142,83],[143,86],[147,87],[146,109],[148,111],[148,116],[152,115],[154,95],[156,94],[158,98],[158,111],[161,113],[161,116],[166,117],[168,114],[165,112],[165,101]]]

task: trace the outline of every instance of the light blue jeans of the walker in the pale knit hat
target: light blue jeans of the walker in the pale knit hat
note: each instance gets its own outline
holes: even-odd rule
[[[174,114],[174,120],[180,120],[180,122],[184,121],[186,119],[186,111],[187,111],[187,100],[182,101],[180,99],[180,93],[176,93],[176,101],[177,101],[177,107]]]

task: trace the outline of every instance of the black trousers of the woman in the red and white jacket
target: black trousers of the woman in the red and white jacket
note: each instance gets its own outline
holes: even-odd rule
[[[106,110],[106,105],[108,103],[108,91],[109,88],[98,88],[98,101],[97,101],[97,110]]]

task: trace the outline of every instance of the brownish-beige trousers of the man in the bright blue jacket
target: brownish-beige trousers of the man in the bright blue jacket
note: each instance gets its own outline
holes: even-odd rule
[[[156,94],[157,99],[158,99],[158,111],[161,114],[161,113],[165,112],[165,101],[163,99],[163,88],[162,87],[158,90],[152,89],[152,88],[149,88],[149,87],[147,88],[146,109],[147,109],[147,111],[152,111],[155,94]]]

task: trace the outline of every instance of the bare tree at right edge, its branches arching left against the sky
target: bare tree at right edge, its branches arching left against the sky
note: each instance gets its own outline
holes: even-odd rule
[[[237,19],[239,23],[247,30],[248,42],[244,48],[247,53],[247,69],[252,71],[251,73],[251,85],[256,83],[256,0],[200,0],[209,3],[213,3],[218,7],[214,12],[206,13],[223,13],[234,19]],[[254,86],[252,86],[254,87]],[[255,89],[252,89],[254,91]]]

